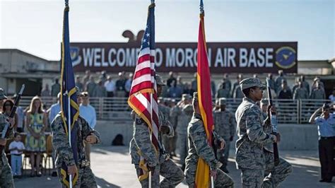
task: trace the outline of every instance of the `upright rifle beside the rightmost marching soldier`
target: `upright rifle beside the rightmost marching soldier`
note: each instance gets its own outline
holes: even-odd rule
[[[266,79],[266,88],[268,90],[268,98],[269,98],[269,108],[273,105],[272,102],[272,95],[271,95],[271,88],[269,84],[269,78]],[[276,135],[278,133],[277,131],[277,119],[276,119],[276,113],[270,112],[270,121],[272,126],[272,134]],[[278,144],[274,143],[274,165],[279,164],[279,152],[278,152]]]

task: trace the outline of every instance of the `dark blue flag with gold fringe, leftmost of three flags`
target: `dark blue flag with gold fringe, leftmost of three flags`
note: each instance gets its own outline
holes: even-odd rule
[[[66,136],[69,138],[69,143],[71,143],[74,160],[76,161],[76,164],[78,164],[78,124],[76,121],[79,116],[79,107],[77,102],[74,69],[72,67],[69,40],[69,6],[66,4],[66,7],[64,8],[63,38],[61,42],[61,118],[63,119],[64,131]],[[65,163],[62,164],[61,175],[63,175],[62,182],[69,187],[69,175],[67,175],[67,167]],[[77,178],[78,173],[76,173],[75,177],[72,177],[73,185],[76,184]]]

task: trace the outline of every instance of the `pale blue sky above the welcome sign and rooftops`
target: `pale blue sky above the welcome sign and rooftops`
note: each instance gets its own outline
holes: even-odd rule
[[[70,0],[71,42],[127,42],[149,0]],[[155,0],[156,42],[196,42],[199,1]],[[204,0],[207,42],[298,42],[298,60],[335,57],[335,0]],[[60,59],[64,1],[0,0],[0,49]]]

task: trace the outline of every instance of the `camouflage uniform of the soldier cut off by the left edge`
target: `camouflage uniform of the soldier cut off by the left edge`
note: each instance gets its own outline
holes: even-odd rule
[[[8,122],[4,114],[0,113],[0,131],[4,129]],[[6,139],[13,139],[13,128],[8,128],[9,134]],[[0,187],[14,187],[13,175],[11,173],[11,166],[8,164],[8,160],[4,151],[1,153],[0,160]]]

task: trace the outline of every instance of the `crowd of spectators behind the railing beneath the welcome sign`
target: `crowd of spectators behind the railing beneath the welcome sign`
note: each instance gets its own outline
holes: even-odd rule
[[[258,77],[254,74],[254,77]],[[320,81],[318,76],[315,77],[311,86],[310,83],[305,81],[305,76],[298,76],[295,78],[295,83],[292,87],[288,86],[288,81],[283,71],[278,71],[278,75],[275,77],[273,74],[268,74],[266,77],[269,79],[269,86],[274,93],[274,98],[278,99],[328,99],[324,90],[324,83]],[[93,98],[103,97],[118,97],[127,98],[131,89],[131,83],[133,74],[126,74],[125,72],[119,72],[117,78],[107,76],[105,71],[102,71],[98,80],[95,79],[90,71],[86,71],[86,74],[76,76],[76,86],[81,91],[86,91]],[[214,81],[211,81],[211,92],[213,98],[243,98],[244,95],[240,88],[240,81],[242,81],[243,75],[238,74],[236,82],[232,83],[228,74],[223,74],[223,78],[216,86]],[[265,83],[265,81],[264,81]],[[334,88],[335,89],[335,88]],[[56,78],[54,84],[49,89],[49,85],[46,84],[45,88],[42,89],[42,96],[53,96],[56,97],[59,93],[60,84]],[[163,98],[181,98],[182,94],[193,95],[194,91],[197,90],[196,74],[190,82],[184,82],[181,76],[175,76],[172,71],[169,73],[166,86],[163,88]],[[329,96],[329,100],[334,102],[335,91]]]

